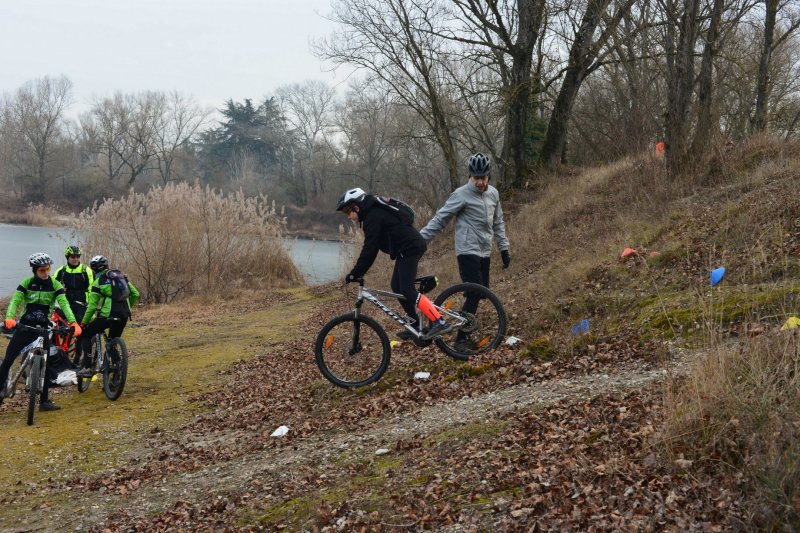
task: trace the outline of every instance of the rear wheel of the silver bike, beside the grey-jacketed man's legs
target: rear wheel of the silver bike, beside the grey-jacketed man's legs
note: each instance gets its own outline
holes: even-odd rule
[[[506,334],[506,311],[495,293],[477,283],[448,287],[434,305],[449,323],[464,321],[461,327],[435,339],[444,353],[467,361],[471,356],[494,350]]]

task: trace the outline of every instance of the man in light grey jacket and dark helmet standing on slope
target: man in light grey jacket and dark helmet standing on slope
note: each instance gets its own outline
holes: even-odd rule
[[[487,288],[492,239],[497,241],[503,268],[508,268],[511,263],[500,194],[489,185],[491,168],[491,161],[482,153],[470,156],[467,163],[469,182],[453,191],[444,206],[420,231],[420,235],[430,241],[455,217],[456,259],[461,280],[479,283]],[[467,299],[464,310],[474,313],[478,303],[477,299]]]

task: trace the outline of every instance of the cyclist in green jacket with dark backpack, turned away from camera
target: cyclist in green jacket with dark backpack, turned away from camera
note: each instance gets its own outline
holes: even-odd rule
[[[125,281],[130,293],[124,299],[115,294],[112,272],[108,267],[108,259],[102,255],[96,255],[89,261],[89,267],[94,272],[95,278],[92,289],[89,291],[86,314],[83,315],[84,334],[81,338],[81,347],[85,357],[83,358],[83,368],[78,371],[81,377],[88,377],[92,374],[92,337],[108,329],[108,336],[111,338],[121,337],[125,330],[125,325],[131,317],[131,307],[139,301],[139,291],[128,281],[128,277],[119,271]],[[109,320],[109,319],[115,320]]]

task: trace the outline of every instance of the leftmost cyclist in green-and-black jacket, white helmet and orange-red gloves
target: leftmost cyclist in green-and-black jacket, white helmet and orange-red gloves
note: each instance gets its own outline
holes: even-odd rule
[[[33,276],[22,280],[17,287],[14,296],[8,304],[6,311],[6,318],[3,325],[6,329],[14,329],[17,325],[14,317],[17,315],[17,308],[19,304],[22,307],[19,311],[22,313],[20,324],[27,326],[47,326],[49,317],[53,314],[53,307],[56,302],[61,307],[67,322],[73,328],[73,335],[76,337],[81,334],[81,327],[75,321],[75,316],[72,314],[69,302],[65,295],[64,287],[60,282],[50,277],[50,268],[53,260],[45,253],[35,253],[28,258],[28,264],[33,271]],[[29,329],[18,328],[14,331],[11,341],[6,348],[6,356],[3,363],[0,364],[0,387],[5,386],[8,379],[8,371],[14,360],[19,356],[20,351],[36,340],[39,334]],[[48,398],[49,381],[44,380],[44,387],[39,401],[40,411],[55,411],[60,409],[59,406],[51,402]],[[2,403],[2,395],[0,395],[0,403]]]

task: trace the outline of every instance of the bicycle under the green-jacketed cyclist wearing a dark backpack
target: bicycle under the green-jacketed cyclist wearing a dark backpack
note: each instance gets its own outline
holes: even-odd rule
[[[120,320],[109,317],[109,321]],[[87,361],[87,358],[89,359]],[[86,392],[95,374],[103,375],[103,392],[109,400],[116,400],[125,388],[128,377],[128,348],[120,337],[108,338],[105,330],[92,337],[91,350],[83,354],[83,368],[78,374],[78,391]]]

